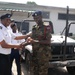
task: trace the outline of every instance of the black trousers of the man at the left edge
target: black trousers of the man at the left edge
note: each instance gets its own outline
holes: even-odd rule
[[[10,56],[0,54],[0,75],[10,75]]]

